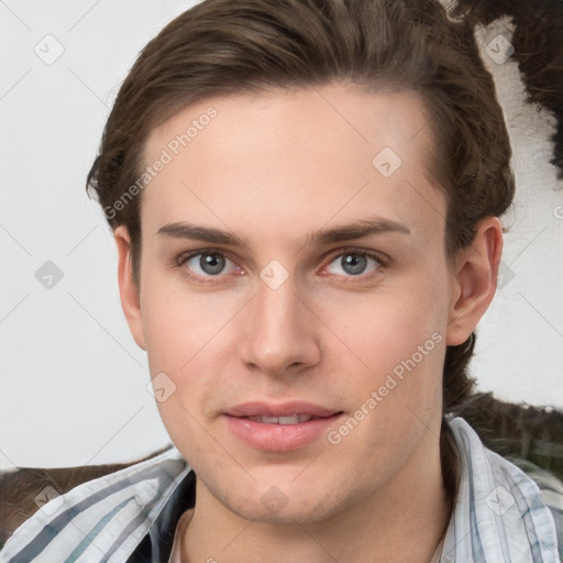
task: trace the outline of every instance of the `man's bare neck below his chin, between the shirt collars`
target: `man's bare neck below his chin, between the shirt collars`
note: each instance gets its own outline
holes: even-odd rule
[[[322,521],[246,520],[198,481],[194,518],[183,538],[183,563],[428,563],[445,536],[456,494],[455,443],[443,424],[440,441],[429,433],[385,487]],[[450,473],[443,476],[444,470]]]

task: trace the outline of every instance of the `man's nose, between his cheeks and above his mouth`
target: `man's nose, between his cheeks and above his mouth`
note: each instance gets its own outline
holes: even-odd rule
[[[257,280],[245,308],[242,361],[255,372],[283,377],[300,374],[320,362],[320,321],[289,277],[277,288]]]

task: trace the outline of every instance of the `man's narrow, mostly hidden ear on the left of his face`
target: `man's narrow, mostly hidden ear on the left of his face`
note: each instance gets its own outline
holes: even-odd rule
[[[131,263],[131,238],[128,228],[120,225],[113,236],[118,245],[119,266],[118,280],[121,297],[121,307],[128,320],[129,330],[140,347],[146,350],[143,332],[143,318],[141,314],[140,291],[133,282],[133,268]]]

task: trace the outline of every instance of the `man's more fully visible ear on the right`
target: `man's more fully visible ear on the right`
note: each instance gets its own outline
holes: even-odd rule
[[[452,271],[446,344],[463,344],[488,309],[497,288],[503,254],[503,227],[497,217],[477,223],[472,244],[463,249]]]

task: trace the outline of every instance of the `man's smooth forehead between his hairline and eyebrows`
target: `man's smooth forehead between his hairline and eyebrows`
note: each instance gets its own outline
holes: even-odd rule
[[[144,162],[165,164],[143,191],[143,230],[205,222],[297,243],[328,222],[378,214],[440,238],[445,203],[429,179],[432,150],[413,92],[338,84],[210,98],[147,137]]]

